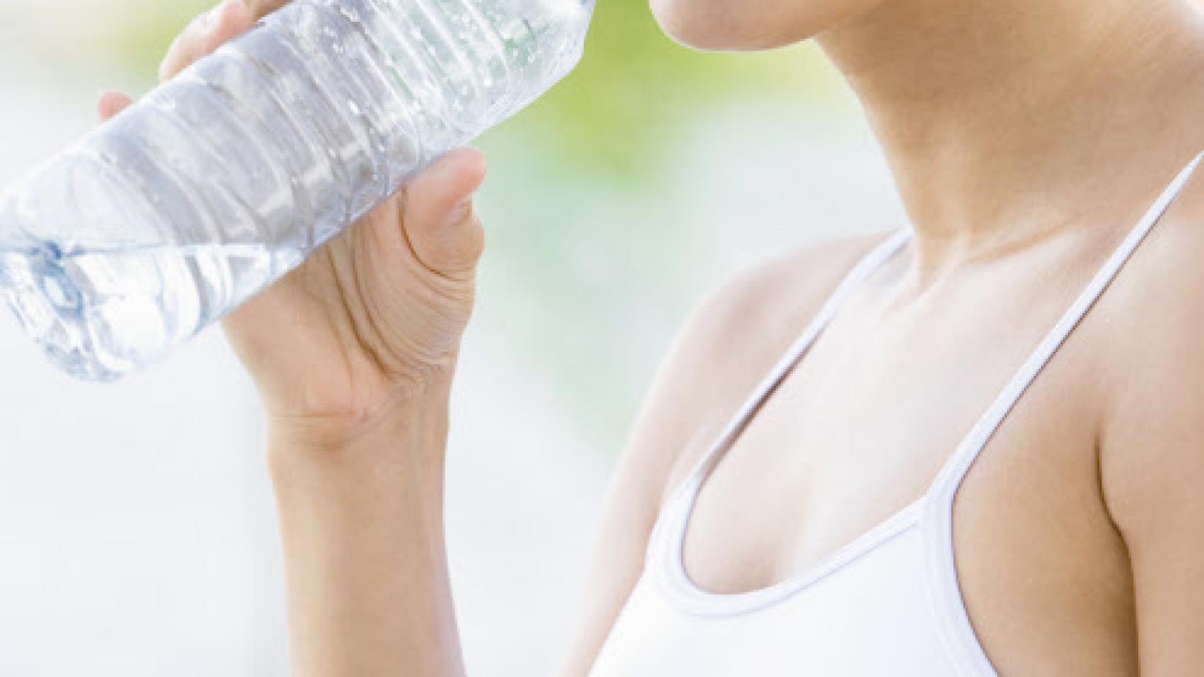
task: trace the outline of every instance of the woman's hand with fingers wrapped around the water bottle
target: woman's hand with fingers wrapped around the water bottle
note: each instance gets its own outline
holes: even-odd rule
[[[284,4],[228,0],[197,17],[172,43],[160,78]],[[100,114],[129,103],[105,94]],[[484,173],[479,152],[450,153],[225,319],[273,434],[343,446],[407,402],[445,392],[484,245],[471,201]]]

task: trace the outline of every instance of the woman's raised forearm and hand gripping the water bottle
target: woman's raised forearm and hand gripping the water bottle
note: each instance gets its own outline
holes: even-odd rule
[[[160,75],[282,1],[228,1]],[[105,118],[129,97],[101,97]],[[299,677],[462,675],[443,545],[448,393],[483,248],[452,153],[223,322],[268,418]]]

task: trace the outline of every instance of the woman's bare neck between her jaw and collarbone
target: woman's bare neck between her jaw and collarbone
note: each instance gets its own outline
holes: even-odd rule
[[[1204,150],[1185,0],[886,0],[820,43],[886,152],[921,286],[1132,207]]]

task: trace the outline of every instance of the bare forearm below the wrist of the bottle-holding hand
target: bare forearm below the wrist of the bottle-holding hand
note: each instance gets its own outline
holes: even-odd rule
[[[443,528],[447,388],[350,441],[270,440],[295,677],[464,673]]]

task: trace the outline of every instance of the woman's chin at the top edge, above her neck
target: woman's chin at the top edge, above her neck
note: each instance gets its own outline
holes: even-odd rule
[[[802,42],[885,0],[650,0],[673,40],[696,49],[750,52]]]

